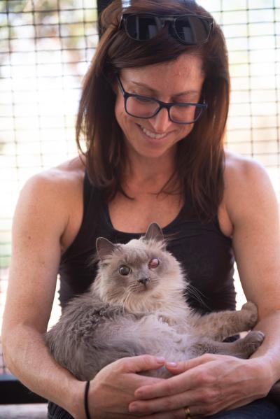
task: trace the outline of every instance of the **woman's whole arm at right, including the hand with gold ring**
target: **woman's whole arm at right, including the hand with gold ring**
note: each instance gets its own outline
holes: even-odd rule
[[[265,333],[265,341],[250,360],[203,355],[168,367],[178,375],[137,390],[133,413],[190,406],[193,416],[214,414],[265,397],[280,378],[279,210],[267,173],[254,162],[228,157],[224,206],[241,283],[247,299],[258,306],[256,329]]]

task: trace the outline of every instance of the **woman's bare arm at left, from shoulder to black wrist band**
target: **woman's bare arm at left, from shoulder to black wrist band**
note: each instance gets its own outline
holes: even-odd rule
[[[15,211],[3,355],[10,371],[30,390],[69,409],[79,383],[55,363],[43,341],[68,221],[57,176],[50,175],[27,182]]]

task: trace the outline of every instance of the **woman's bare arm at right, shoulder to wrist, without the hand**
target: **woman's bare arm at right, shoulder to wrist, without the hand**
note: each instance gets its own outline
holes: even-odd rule
[[[233,246],[241,284],[246,298],[258,306],[255,329],[265,333],[265,341],[251,358],[258,358],[262,383],[270,386],[271,379],[280,378],[279,204],[261,166],[246,160],[239,166],[246,182],[228,197],[228,213],[235,221]]]

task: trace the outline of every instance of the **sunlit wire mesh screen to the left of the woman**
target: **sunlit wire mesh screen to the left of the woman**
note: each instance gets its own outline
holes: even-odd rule
[[[80,82],[97,42],[95,0],[0,1],[0,327],[18,192],[76,154]]]

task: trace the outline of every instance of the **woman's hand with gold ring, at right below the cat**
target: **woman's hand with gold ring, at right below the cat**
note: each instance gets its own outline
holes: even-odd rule
[[[188,406],[192,418],[204,417],[265,397],[272,386],[260,358],[241,360],[207,354],[176,366],[167,363],[166,368],[174,374],[172,378],[135,391],[137,401],[129,406],[132,414],[183,419],[183,407]]]

